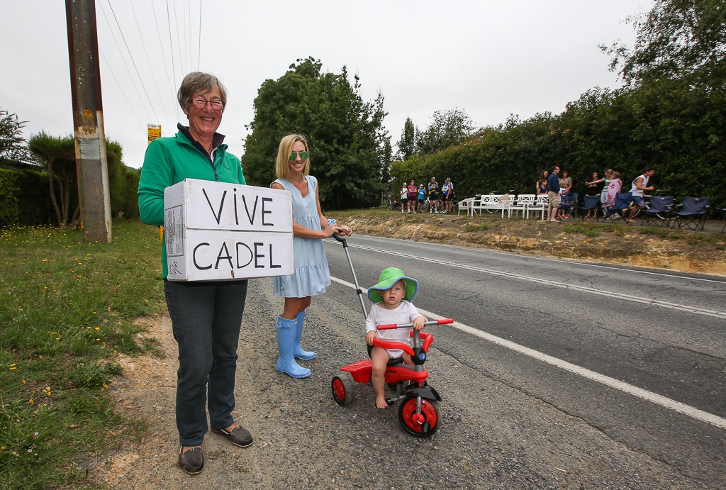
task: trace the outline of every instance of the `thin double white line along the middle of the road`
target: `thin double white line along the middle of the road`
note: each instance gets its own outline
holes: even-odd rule
[[[668,309],[674,309],[674,310],[679,310],[679,311],[688,311],[688,313],[695,313],[695,314],[699,314],[699,315],[704,315],[706,317],[715,317],[715,318],[726,319],[726,311],[707,310],[707,309],[703,309],[703,308],[698,308],[697,306],[680,305],[677,303],[669,303],[667,301],[659,301],[656,299],[649,299],[649,298],[634,298],[632,295],[616,293],[613,291],[599,290],[599,289],[595,289],[595,287],[579,286],[579,285],[574,285],[574,284],[568,284],[567,282],[558,282],[558,281],[551,281],[549,279],[542,279],[540,277],[523,276],[521,274],[513,274],[511,272],[502,272],[502,271],[497,271],[494,269],[485,269],[484,267],[470,266],[467,264],[457,264],[456,262],[442,261],[442,260],[438,260],[436,258],[412,256],[408,253],[391,252],[390,250],[382,250],[379,248],[370,248],[370,247],[365,247],[362,245],[355,245],[355,246],[356,246],[356,248],[362,248],[364,250],[370,250],[370,251],[373,251],[376,253],[386,253],[386,254],[392,255],[392,256],[415,258],[417,260],[431,262],[433,264],[443,264],[443,265],[446,265],[447,267],[457,267],[459,269],[468,269],[470,271],[483,272],[485,274],[491,274],[493,276],[510,277],[512,279],[519,279],[522,281],[536,282],[539,285],[550,285],[550,286],[554,286],[554,287],[561,287],[563,289],[580,291],[582,293],[590,293],[590,294],[595,294],[595,295],[600,295],[600,296],[607,296],[608,298],[617,298],[617,299],[620,299],[623,301],[630,301],[632,303],[643,303],[643,304],[652,305],[652,306],[661,306],[661,308],[668,308]]]

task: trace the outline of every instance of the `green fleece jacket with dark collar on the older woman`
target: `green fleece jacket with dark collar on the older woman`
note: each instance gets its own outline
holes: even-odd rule
[[[214,163],[179,131],[174,137],[158,138],[149,144],[139,179],[139,214],[146,224],[164,224],[164,189],[184,179],[203,179],[229,184],[246,184],[240,160],[227,153],[227,144],[216,147]],[[217,137],[219,136],[219,138]],[[215,135],[216,139],[224,136]],[[161,243],[162,277],[166,278],[166,244]]]

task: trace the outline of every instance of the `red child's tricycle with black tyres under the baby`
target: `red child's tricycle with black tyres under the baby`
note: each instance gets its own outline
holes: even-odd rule
[[[425,326],[453,323],[453,319],[433,320],[425,322]],[[378,330],[393,328],[411,328],[412,323],[379,325]],[[404,364],[403,359],[391,359],[386,368],[386,384],[396,391],[396,395],[387,399],[386,403],[392,405],[401,401],[399,406],[399,422],[408,433],[418,437],[431,436],[439,428],[441,417],[439,415],[439,393],[426,383],[428,372],[423,368],[428,347],[433,342],[433,335],[426,332],[412,330],[413,348],[400,342],[388,342],[380,338],[373,339],[373,345],[382,348],[403,349],[411,356],[414,365]],[[372,361],[358,361],[340,368],[350,375],[333,377],[331,388],[333,399],[340,405],[347,405],[354,399],[354,381],[369,383],[372,373]]]

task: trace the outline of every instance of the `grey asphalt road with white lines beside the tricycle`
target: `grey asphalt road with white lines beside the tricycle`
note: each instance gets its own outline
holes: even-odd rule
[[[470,370],[471,390],[514,388],[694,486],[726,485],[726,279],[375,237],[348,244],[362,287],[399,266],[420,280],[419,309],[457,320],[431,331]],[[343,247],[326,248],[336,282],[325,301],[362,318]],[[510,402],[502,417],[517,412]]]

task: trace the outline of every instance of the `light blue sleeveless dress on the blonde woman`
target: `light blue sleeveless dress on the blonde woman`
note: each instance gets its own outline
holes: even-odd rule
[[[305,179],[308,181],[306,197],[290,181],[277,179],[273,184],[280,184],[293,195],[293,222],[319,232],[322,228],[315,200],[317,179],[311,175]],[[330,269],[322,239],[293,237],[293,262],[293,274],[273,278],[275,296],[305,298],[325,293],[325,288],[330,286]]]

